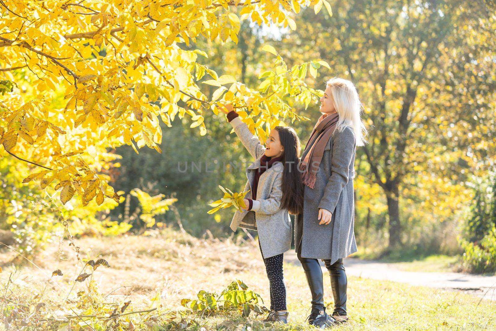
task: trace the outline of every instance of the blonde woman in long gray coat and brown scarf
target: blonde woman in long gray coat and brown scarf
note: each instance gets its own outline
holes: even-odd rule
[[[312,296],[309,323],[319,328],[346,322],[347,278],[343,258],[357,251],[353,178],[356,146],[366,143],[362,104],[353,83],[327,81],[322,116],[311,132],[299,166],[304,183],[303,213],[295,218],[295,246]],[[325,312],[322,270],[331,277],[334,311]]]

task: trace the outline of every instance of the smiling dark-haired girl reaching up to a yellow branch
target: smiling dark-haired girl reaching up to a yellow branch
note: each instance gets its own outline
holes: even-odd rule
[[[283,254],[291,248],[289,212],[303,211],[303,184],[297,169],[300,140],[290,127],[275,127],[265,147],[241,121],[232,105],[221,110],[255,161],[246,169],[251,199],[246,208],[236,210],[231,229],[238,227],[258,231],[260,252],[270,284],[270,313],[265,321],[287,323],[286,285],[283,277]]]

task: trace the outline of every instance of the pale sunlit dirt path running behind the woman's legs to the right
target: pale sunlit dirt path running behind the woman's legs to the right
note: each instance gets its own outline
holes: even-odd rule
[[[284,259],[288,263],[300,265],[295,252],[285,253]],[[396,268],[394,263],[352,258],[345,259],[344,265],[346,267],[346,274],[348,275],[378,280],[391,280],[448,291],[463,291],[486,300],[496,301],[496,276],[481,276],[458,272],[403,271]]]

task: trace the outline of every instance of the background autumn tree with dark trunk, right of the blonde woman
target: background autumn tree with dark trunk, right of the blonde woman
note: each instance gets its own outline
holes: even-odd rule
[[[495,11],[484,1],[331,5],[333,19],[307,9],[277,47],[307,47],[357,85],[370,125],[358,153],[387,200],[394,247],[407,208],[442,222],[471,200],[470,175],[494,165]]]

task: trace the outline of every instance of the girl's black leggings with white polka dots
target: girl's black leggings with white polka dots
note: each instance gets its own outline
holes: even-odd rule
[[[269,278],[270,286],[270,310],[286,310],[286,284],[282,270],[283,254],[279,254],[267,259],[263,258],[262,246],[258,241],[260,253],[262,254],[265,271]]]

